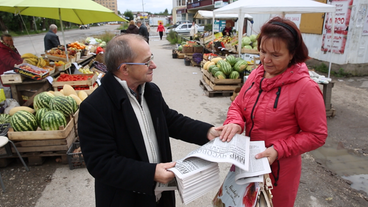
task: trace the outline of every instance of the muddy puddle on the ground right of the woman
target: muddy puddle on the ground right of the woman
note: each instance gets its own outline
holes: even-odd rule
[[[341,147],[321,147],[311,152],[329,170],[352,182],[351,187],[368,194],[368,158],[357,157]]]

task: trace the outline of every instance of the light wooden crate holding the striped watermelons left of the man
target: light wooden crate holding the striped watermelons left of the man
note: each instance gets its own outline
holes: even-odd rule
[[[9,128],[8,138],[13,141],[65,139],[71,131],[74,131],[73,118],[70,119],[66,127],[62,130],[43,131],[38,128],[37,131],[15,132],[13,128]]]

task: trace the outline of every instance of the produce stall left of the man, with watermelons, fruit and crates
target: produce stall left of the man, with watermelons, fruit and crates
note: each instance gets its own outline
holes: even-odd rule
[[[8,124],[5,133],[18,146],[21,156],[28,158],[28,164],[42,164],[48,156],[68,162],[67,151],[76,146],[78,137],[78,106],[98,87],[106,72],[104,49],[100,47],[106,43],[96,39],[67,44],[68,59],[63,48],[53,48],[42,56],[23,54],[25,63],[1,76],[3,83],[10,85],[13,99],[3,102],[0,124]],[[52,103],[54,99],[57,101]],[[50,121],[45,118],[49,111],[59,114],[55,112]],[[16,156],[7,153],[2,157],[0,166],[6,166],[7,160]],[[79,166],[81,160],[75,164]]]

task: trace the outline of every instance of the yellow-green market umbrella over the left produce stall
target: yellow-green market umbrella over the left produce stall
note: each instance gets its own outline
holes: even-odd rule
[[[59,19],[65,46],[63,21],[76,24],[128,21],[92,0],[0,0],[0,11]]]

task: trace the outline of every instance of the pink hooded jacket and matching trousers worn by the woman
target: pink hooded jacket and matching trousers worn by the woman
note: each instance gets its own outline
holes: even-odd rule
[[[252,71],[231,104],[225,124],[235,123],[252,141],[264,140],[278,152],[272,164],[274,204],[293,206],[301,174],[301,154],[324,145],[327,120],[323,96],[305,63],[273,78]],[[277,183],[278,182],[278,183]],[[278,187],[275,187],[278,186]]]

